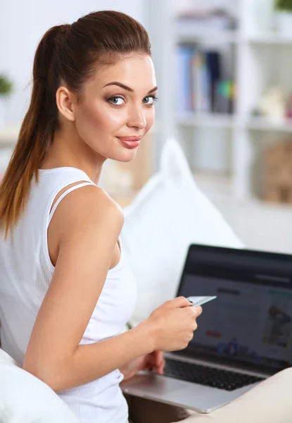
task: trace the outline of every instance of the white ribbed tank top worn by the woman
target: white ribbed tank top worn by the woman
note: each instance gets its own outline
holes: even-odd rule
[[[51,209],[58,192],[76,182],[81,184],[66,190]],[[21,365],[54,271],[47,245],[49,222],[65,195],[89,184],[94,185],[87,174],[77,168],[40,170],[39,183],[32,183],[25,212],[12,237],[0,238],[1,348]],[[134,312],[136,284],[122,245],[121,251],[120,262],[108,271],[80,344],[118,335]],[[89,384],[63,391],[59,396],[77,414],[81,423],[124,423],[128,411],[119,386],[122,378],[117,369]]]

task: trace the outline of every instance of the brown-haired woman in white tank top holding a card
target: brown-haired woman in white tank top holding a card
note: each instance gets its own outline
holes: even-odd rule
[[[127,422],[120,381],[141,368],[162,373],[162,351],[185,348],[202,311],[176,298],[121,334],[136,288],[122,211],[96,185],[106,159],[135,157],[156,93],[136,20],[101,11],[52,27],[0,187],[1,348],[82,423]]]

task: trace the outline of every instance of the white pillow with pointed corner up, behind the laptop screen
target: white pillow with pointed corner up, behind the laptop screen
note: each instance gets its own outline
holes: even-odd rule
[[[182,148],[167,140],[160,172],[125,209],[122,247],[137,280],[137,324],[177,293],[191,243],[241,248],[222,214],[198,189]]]

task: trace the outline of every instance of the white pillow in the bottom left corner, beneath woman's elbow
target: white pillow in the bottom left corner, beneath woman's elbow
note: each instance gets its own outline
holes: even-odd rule
[[[0,422],[79,423],[79,420],[48,385],[18,367],[0,349]]]

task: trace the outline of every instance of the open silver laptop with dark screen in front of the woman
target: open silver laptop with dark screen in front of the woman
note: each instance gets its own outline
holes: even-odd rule
[[[188,347],[165,353],[165,373],[139,372],[124,393],[208,413],[291,367],[291,255],[191,245],[179,295],[217,298]]]

